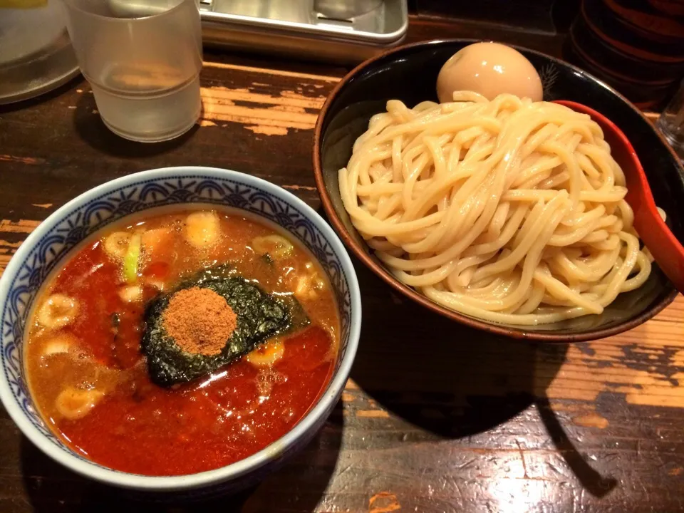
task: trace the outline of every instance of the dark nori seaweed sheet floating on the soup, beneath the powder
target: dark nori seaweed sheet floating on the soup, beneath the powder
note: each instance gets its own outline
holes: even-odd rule
[[[237,328],[217,355],[183,351],[163,327],[163,314],[171,296],[193,286],[211,289],[223,296],[237,314]],[[249,353],[267,338],[309,324],[306,312],[294,296],[276,298],[239,276],[229,264],[199,271],[167,294],[157,296],[147,306],[145,321],[142,353],[147,356],[150,378],[162,387],[212,373]]]

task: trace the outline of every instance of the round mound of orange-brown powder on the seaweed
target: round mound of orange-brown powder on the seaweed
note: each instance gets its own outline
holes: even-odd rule
[[[194,286],[171,297],[162,322],[183,351],[212,356],[222,351],[237,328],[237,315],[224,297]]]

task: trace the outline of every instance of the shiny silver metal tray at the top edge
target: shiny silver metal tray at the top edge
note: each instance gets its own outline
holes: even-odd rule
[[[407,0],[384,0],[346,19],[317,11],[326,2],[330,0],[199,0],[202,38],[207,46],[345,64],[403,41]]]

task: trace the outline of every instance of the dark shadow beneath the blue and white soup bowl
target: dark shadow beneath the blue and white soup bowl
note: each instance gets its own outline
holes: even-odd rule
[[[335,470],[342,442],[341,401],[304,450],[256,487],[196,502],[130,497],[66,470],[21,439],[24,487],[36,513],[261,513],[314,511]]]

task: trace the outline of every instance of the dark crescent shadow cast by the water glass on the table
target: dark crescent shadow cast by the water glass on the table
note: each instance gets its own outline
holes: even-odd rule
[[[103,123],[98,113],[98,107],[95,105],[93,92],[87,85],[84,87],[83,93],[79,95],[76,110],[73,111],[73,124],[79,137],[90,147],[107,155],[123,158],[152,157],[170,152],[184,145],[199,128],[199,125],[195,124],[180,137],[153,144],[121,138]]]

